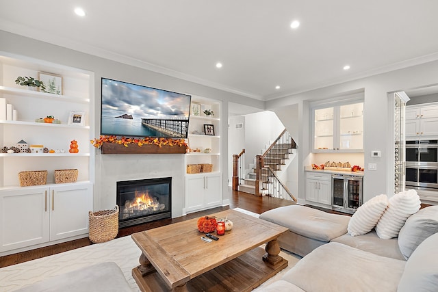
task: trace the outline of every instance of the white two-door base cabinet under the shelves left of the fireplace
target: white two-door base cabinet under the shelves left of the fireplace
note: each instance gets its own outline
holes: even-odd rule
[[[92,184],[0,189],[0,253],[88,234]]]

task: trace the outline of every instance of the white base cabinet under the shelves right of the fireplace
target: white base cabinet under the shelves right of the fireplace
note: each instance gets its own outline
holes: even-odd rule
[[[222,204],[222,176],[192,174],[185,179],[185,211],[191,213]]]

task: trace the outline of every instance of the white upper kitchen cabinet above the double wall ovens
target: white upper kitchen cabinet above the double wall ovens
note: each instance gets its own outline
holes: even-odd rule
[[[406,108],[407,139],[438,136],[438,105],[411,105]]]

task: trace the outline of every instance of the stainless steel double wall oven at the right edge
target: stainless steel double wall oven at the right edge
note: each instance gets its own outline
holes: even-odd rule
[[[406,142],[406,186],[438,190],[438,140]]]

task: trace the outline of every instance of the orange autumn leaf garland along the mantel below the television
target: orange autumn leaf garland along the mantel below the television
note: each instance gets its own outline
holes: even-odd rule
[[[99,139],[90,140],[90,142],[96,148],[101,148],[103,143],[123,144],[123,146],[125,147],[128,147],[129,144],[137,144],[137,146],[139,147],[143,146],[143,144],[157,145],[160,148],[163,145],[179,146],[185,148],[188,147],[184,139],[172,139],[172,138],[164,138],[164,137],[127,138],[127,137],[118,137],[114,135],[111,136],[102,135],[101,137],[99,137]]]

